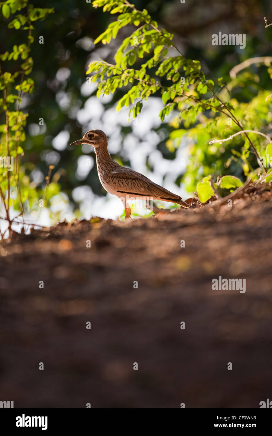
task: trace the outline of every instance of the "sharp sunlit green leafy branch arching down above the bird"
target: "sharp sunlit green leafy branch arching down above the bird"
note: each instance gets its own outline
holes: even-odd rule
[[[131,84],[131,88],[117,103],[117,111],[123,106],[132,105],[129,115],[132,112],[133,118],[141,112],[143,100],[158,92],[161,93],[164,104],[159,114],[161,121],[174,109],[179,112],[179,122],[188,120],[187,125],[195,123],[196,117],[207,110],[214,114],[222,114],[243,131],[257,161],[260,160],[258,150],[247,131],[243,129],[233,104],[221,96],[224,89],[222,78],[218,79],[217,86],[212,80],[207,80],[200,62],[187,59],[173,42],[174,35],[163,28],[160,29],[147,10],[137,10],[127,0],[95,0],[93,7],[103,7],[104,12],[119,14],[117,20],[111,22],[106,31],[96,38],[95,44],[100,41],[109,44],[112,38],[117,37],[122,27],[136,27],[117,49],[114,56],[115,65],[103,60],[90,63],[86,74],[91,74],[91,80],[97,83],[98,97],[114,93],[118,88]],[[169,49],[175,49],[178,55],[168,57]],[[131,68],[143,58],[145,63],[141,68]],[[152,77],[154,68],[155,75],[160,80]],[[165,82],[168,84],[165,85]],[[213,119],[209,120],[208,128],[211,129],[216,123],[217,117],[213,116]],[[264,170],[266,171],[265,168]]]

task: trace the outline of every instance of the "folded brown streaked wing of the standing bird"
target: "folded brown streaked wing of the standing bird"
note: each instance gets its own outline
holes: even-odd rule
[[[179,195],[173,194],[130,168],[121,167],[108,171],[103,175],[103,179],[114,191],[120,193],[160,198],[173,202],[181,199]]]

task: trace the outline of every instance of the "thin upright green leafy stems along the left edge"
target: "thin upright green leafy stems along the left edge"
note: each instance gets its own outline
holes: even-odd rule
[[[22,94],[31,94],[34,89],[34,80],[26,77],[31,74],[33,66],[30,55],[31,44],[34,42],[33,22],[44,20],[54,10],[35,8],[28,0],[7,0],[0,3],[0,9],[5,22],[10,16],[14,16],[7,27],[23,31],[18,40],[26,40],[25,43],[20,41],[21,44],[14,44],[9,51],[0,54],[0,91],[3,92],[3,97],[0,98],[0,195],[11,229],[11,206],[24,215],[25,209],[38,209],[39,198],[45,201],[45,189],[38,190],[34,183],[29,183],[29,177],[25,174],[26,168],[19,166],[20,157],[24,155],[24,129],[28,117],[28,113],[20,110],[20,106]],[[24,31],[27,32],[26,37]],[[52,194],[57,192],[58,187],[55,185]]]

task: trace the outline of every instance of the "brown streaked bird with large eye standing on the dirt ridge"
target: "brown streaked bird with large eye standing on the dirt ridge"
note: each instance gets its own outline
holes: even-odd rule
[[[103,130],[88,130],[82,139],[74,141],[71,145],[79,144],[90,144],[94,147],[99,180],[107,192],[120,198],[124,205],[125,218],[131,216],[131,208],[129,207],[131,198],[146,201],[169,201],[177,203],[183,208],[189,208],[189,204],[182,201],[179,195],[152,182],[143,174],[117,164],[108,152],[107,135]]]

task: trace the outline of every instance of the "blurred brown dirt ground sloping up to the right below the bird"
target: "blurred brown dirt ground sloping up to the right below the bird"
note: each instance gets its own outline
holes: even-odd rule
[[[272,399],[271,214],[272,193],[251,189],[232,207],[61,223],[1,244],[0,400],[258,408]],[[219,276],[246,279],[246,292],[212,290]]]

